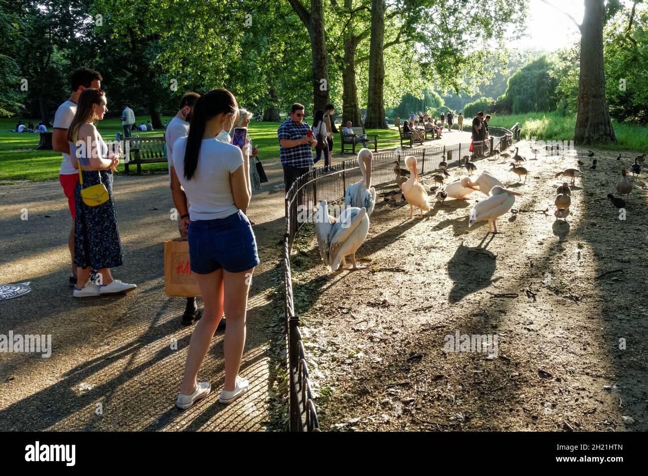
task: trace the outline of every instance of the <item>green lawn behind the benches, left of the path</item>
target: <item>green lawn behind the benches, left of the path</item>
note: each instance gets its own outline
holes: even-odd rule
[[[162,117],[170,120],[171,117]],[[25,124],[31,120],[38,124],[36,119],[21,119]],[[16,127],[17,119],[0,119],[0,184],[13,183],[19,180],[52,180],[58,179],[58,170],[61,164],[61,154],[52,150],[34,150],[40,140],[37,133],[7,132]],[[280,122],[257,122],[249,124],[249,135],[259,148],[259,159],[262,161],[279,160],[279,141],[277,141],[277,128]],[[97,122],[99,133],[106,141],[113,141],[117,131],[122,131],[119,119],[106,119]],[[50,129],[51,131],[51,129]],[[140,137],[163,135],[164,131],[137,132],[133,135]],[[398,145],[399,133],[395,129],[367,130],[367,134],[378,135],[378,148],[394,147]],[[340,151],[339,135],[335,137],[334,153]],[[123,165],[119,171],[124,170]],[[132,168],[133,170],[133,168]],[[144,164],[144,172],[167,172],[167,164]]]

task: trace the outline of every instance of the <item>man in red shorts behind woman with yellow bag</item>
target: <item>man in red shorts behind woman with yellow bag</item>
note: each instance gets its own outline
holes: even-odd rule
[[[74,287],[76,284],[76,265],[75,265],[75,187],[78,182],[78,165],[70,157],[70,145],[67,142],[67,129],[72,123],[76,113],[76,102],[78,101],[81,91],[87,87],[101,87],[101,74],[92,69],[81,68],[72,73],[70,85],[72,86],[72,95],[56,109],[54,115],[54,130],[52,131],[52,148],[56,152],[63,154],[61,170],[58,172],[58,179],[63,186],[63,192],[67,197],[67,205],[72,215],[72,229],[67,237],[67,247],[70,249],[72,258],[72,276],[69,278],[69,285]]]

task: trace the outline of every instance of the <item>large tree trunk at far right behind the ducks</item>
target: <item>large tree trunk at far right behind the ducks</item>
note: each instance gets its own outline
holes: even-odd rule
[[[610,109],[605,98],[603,70],[603,0],[585,1],[581,25],[581,76],[579,80],[578,114],[574,142],[592,144],[616,142],[610,122]]]

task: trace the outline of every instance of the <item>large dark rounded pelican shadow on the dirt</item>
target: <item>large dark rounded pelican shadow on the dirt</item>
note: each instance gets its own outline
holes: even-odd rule
[[[496,281],[492,280],[496,256],[486,249],[493,238],[493,234],[487,234],[476,247],[464,246],[463,241],[459,244],[454,256],[448,261],[448,276],[454,282],[448,293],[450,302],[459,302]]]

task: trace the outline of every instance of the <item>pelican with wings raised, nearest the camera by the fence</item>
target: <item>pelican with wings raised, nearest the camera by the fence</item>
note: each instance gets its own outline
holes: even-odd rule
[[[329,215],[326,200],[319,203],[315,218],[315,234],[319,254],[330,272],[347,267],[346,256],[351,255],[351,269],[361,269],[356,264],[356,251],[364,243],[369,232],[369,216],[365,207],[342,210],[339,218]]]

